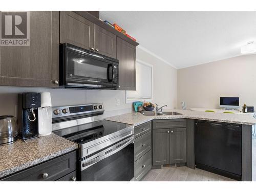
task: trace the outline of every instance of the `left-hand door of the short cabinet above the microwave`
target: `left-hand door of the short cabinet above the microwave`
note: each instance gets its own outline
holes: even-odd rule
[[[73,11],[60,11],[60,43],[93,48],[94,24]]]

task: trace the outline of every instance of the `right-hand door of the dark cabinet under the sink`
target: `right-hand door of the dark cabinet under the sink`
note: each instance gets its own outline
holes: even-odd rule
[[[186,162],[186,128],[170,129],[170,164]]]

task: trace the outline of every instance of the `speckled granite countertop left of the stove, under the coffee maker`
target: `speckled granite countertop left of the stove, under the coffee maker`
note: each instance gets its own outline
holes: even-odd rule
[[[78,145],[51,134],[0,146],[0,178],[76,150]]]

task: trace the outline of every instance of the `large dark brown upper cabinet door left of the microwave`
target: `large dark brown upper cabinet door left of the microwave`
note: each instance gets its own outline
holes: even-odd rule
[[[58,87],[59,12],[30,11],[30,46],[0,47],[0,86]]]

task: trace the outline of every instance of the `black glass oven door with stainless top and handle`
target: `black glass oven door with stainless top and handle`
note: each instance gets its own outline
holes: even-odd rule
[[[80,160],[80,181],[131,181],[134,178],[134,137]]]

